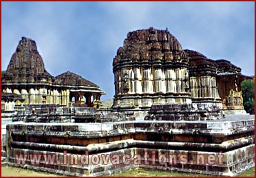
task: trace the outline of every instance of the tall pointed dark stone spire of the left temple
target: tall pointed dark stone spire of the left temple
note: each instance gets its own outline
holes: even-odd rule
[[[6,80],[7,78],[7,80]],[[45,70],[43,58],[37,51],[36,42],[22,37],[13,53],[2,82],[39,83],[54,78]]]

